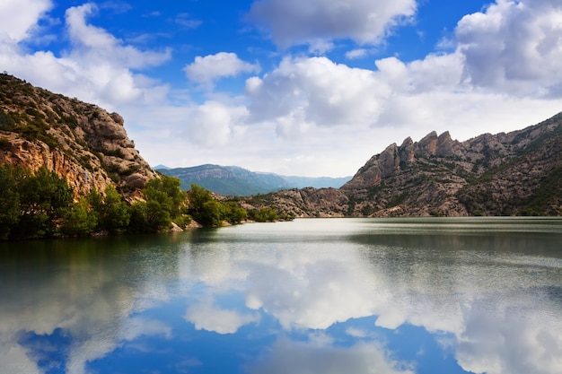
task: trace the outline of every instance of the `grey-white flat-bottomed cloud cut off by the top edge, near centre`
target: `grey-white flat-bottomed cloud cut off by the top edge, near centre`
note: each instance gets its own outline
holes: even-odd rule
[[[416,13],[415,0],[261,0],[248,18],[287,48],[316,39],[353,39],[377,44],[389,30]]]

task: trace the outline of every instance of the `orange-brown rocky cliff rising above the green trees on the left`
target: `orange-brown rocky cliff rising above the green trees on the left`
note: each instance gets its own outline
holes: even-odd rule
[[[0,74],[0,163],[55,170],[76,196],[112,184],[129,201],[156,177],[119,114],[7,74]]]

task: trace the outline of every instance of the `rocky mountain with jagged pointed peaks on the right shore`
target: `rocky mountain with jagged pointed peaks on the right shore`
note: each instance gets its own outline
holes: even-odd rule
[[[561,215],[562,113],[465,142],[448,132],[408,137],[339,189],[280,191],[260,201],[300,217]]]

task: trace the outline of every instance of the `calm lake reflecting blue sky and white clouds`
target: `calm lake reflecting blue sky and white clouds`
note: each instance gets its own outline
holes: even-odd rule
[[[0,372],[562,373],[562,218],[0,243]]]

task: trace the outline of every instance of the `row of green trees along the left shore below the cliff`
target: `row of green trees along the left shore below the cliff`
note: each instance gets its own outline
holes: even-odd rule
[[[270,207],[246,210],[235,201],[220,202],[198,185],[180,189],[180,179],[161,175],[146,183],[144,199],[127,204],[112,185],[75,201],[72,187],[55,171],[35,174],[20,166],[0,165],[0,240],[122,234],[185,228],[194,220],[219,226],[248,219],[274,222]]]

